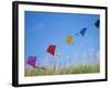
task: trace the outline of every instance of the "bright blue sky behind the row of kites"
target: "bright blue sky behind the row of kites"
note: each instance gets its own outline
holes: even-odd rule
[[[100,30],[95,22],[98,19],[98,14],[25,11],[25,59],[36,56],[41,66],[56,64],[57,67],[97,62]],[[87,28],[85,36],[79,34],[82,28]],[[67,35],[74,36],[74,44],[65,42]],[[54,56],[46,52],[51,44],[56,45]]]

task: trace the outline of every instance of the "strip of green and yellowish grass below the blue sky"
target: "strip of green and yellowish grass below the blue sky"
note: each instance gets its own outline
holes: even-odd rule
[[[70,75],[70,74],[92,74],[100,73],[99,64],[89,64],[89,65],[73,65],[67,68],[25,68],[25,76],[45,76],[45,75]]]

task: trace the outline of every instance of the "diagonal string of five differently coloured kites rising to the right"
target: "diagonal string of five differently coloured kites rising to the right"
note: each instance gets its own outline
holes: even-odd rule
[[[99,25],[100,25],[100,21],[97,20],[95,22],[95,26],[97,29],[99,29]],[[87,31],[87,28],[82,28],[81,31],[79,31],[78,34],[80,34],[81,36],[85,36],[86,31]],[[76,34],[76,35],[78,35],[78,34]],[[73,38],[74,38],[73,35],[67,35],[65,42],[67,44],[72,44]],[[51,44],[51,45],[48,45],[46,52],[54,56],[55,55],[55,50],[56,50],[56,45]],[[32,66],[32,67],[36,67],[35,66],[36,65],[36,56],[29,56],[29,58],[26,59],[26,64]]]

